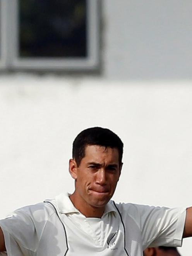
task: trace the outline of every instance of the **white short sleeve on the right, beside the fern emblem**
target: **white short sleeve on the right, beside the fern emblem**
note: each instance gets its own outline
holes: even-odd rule
[[[137,206],[143,247],[182,246],[185,208]]]

